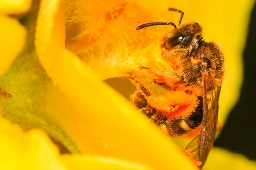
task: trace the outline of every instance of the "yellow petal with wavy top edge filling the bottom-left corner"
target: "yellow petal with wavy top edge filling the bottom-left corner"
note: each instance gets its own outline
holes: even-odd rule
[[[1,170],[64,170],[58,149],[41,130],[24,133],[0,118]]]

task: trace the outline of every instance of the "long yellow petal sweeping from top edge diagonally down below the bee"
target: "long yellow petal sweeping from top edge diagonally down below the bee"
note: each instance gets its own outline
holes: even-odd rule
[[[63,2],[42,0],[37,23],[39,59],[75,110],[74,115],[55,119],[81,152],[116,156],[155,169],[193,169],[174,143],[64,49]]]

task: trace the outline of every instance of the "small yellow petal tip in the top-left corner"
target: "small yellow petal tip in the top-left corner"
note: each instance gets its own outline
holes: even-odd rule
[[[20,14],[26,12],[29,10],[31,2],[32,0],[0,0],[0,14]]]

